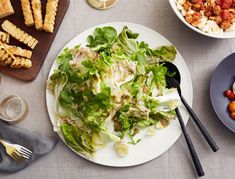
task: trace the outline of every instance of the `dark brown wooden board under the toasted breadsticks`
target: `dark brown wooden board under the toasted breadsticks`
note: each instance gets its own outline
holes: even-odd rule
[[[46,0],[41,0],[42,2],[42,12],[43,12],[43,18],[45,16],[45,8],[46,8]],[[15,10],[15,14],[5,17],[3,19],[0,19],[0,25],[2,22],[6,19],[17,25],[19,28],[27,32],[28,34],[35,37],[39,43],[37,46],[33,49],[33,55],[32,55],[32,63],[33,66],[30,69],[11,69],[10,67],[2,67],[0,66],[0,72],[5,73],[9,76],[12,76],[14,78],[18,78],[20,80],[24,81],[32,81],[34,80],[41,67],[42,64],[47,56],[47,53],[51,47],[51,44],[55,38],[55,35],[60,27],[60,24],[63,20],[63,17],[68,9],[70,0],[59,0],[57,14],[56,14],[56,21],[55,21],[55,29],[53,34],[48,33],[45,31],[37,31],[34,26],[27,27],[24,24],[24,17],[23,12],[21,9],[21,3],[20,0],[11,0],[12,6]],[[2,30],[2,28],[0,28]],[[26,45],[23,43],[11,38],[10,44],[17,45],[22,48],[29,49]]]

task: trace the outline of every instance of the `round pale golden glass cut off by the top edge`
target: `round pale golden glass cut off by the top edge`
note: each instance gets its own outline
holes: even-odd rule
[[[113,7],[118,0],[86,0],[88,4],[96,9],[109,9]]]

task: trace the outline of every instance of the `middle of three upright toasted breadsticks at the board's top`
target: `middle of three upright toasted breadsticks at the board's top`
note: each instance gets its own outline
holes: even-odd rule
[[[43,29],[41,0],[32,0],[33,17],[37,30]]]

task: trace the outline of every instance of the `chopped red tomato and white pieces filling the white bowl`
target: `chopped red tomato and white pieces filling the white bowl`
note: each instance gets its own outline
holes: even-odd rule
[[[235,29],[235,0],[177,0],[177,8],[188,23],[202,31]]]

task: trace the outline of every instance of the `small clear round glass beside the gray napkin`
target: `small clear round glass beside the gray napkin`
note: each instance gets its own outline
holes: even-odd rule
[[[0,101],[0,118],[4,121],[15,123],[23,120],[28,115],[26,101],[15,94],[3,96]]]

